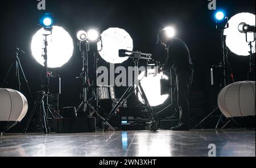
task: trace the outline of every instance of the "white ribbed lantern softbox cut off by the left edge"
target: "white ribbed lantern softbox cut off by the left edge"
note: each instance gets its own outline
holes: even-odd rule
[[[27,99],[22,93],[0,88],[0,132],[5,132],[19,123],[27,110]]]

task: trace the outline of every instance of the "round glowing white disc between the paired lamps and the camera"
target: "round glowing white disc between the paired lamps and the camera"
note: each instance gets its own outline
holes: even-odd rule
[[[100,56],[112,64],[121,64],[129,57],[119,57],[119,49],[133,51],[133,39],[129,33],[121,28],[109,28],[101,34],[102,49],[98,45],[98,50],[101,49]]]

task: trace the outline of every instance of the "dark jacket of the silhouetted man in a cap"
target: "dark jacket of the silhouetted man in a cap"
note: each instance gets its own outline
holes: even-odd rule
[[[163,70],[174,68],[175,73],[193,72],[193,63],[187,45],[180,39],[173,38],[167,43],[168,56]]]

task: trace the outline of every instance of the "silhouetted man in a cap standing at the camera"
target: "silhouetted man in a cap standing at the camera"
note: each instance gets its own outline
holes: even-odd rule
[[[189,130],[189,90],[193,81],[193,64],[187,45],[180,39],[167,35],[166,30],[158,33],[158,44],[166,46],[168,51],[163,71],[173,68],[176,74],[177,97],[180,110],[179,125],[173,131]]]

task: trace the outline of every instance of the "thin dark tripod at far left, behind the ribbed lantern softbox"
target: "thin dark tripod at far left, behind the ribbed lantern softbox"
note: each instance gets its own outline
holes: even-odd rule
[[[5,79],[3,79],[2,85],[5,85],[5,84],[7,83],[6,79],[8,78],[11,69],[12,69],[13,66],[15,65],[15,77],[18,79],[19,92],[21,91],[21,89],[20,89],[21,83],[20,83],[20,76],[19,76],[19,69],[20,69],[21,72],[22,72],[24,81],[26,82],[26,86],[27,86],[28,92],[30,93],[31,99],[33,99],[33,96],[32,96],[31,91],[30,91],[30,87],[28,86],[27,78],[26,78],[26,76],[25,76],[25,74],[24,74],[22,65],[20,64],[20,61],[19,61],[19,57],[18,57],[18,56],[19,56],[19,53],[20,53],[20,52],[22,52],[23,54],[25,53],[24,51],[20,50],[19,48],[16,48],[15,57],[14,57],[14,59],[13,59],[13,62],[11,62],[11,66],[10,66],[8,72],[7,72],[6,75],[5,75]]]

